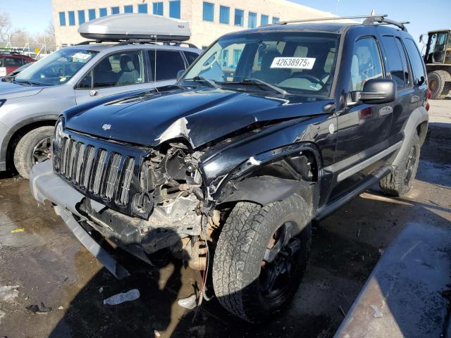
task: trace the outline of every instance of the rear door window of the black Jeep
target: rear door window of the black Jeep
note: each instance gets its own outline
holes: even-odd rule
[[[400,40],[393,36],[382,37],[385,54],[388,61],[388,71],[392,79],[396,82],[397,90],[409,87],[409,68],[407,66],[404,47]]]

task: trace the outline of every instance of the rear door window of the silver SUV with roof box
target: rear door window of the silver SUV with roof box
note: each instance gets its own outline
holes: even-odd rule
[[[152,71],[152,79],[155,78],[155,51],[149,50],[149,61]],[[175,80],[179,70],[185,70],[180,51],[156,51],[156,81]]]

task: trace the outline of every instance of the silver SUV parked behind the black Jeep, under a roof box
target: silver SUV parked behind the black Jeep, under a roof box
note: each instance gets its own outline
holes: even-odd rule
[[[0,82],[0,171],[16,168],[28,178],[33,164],[49,158],[56,118],[63,110],[112,94],[174,84],[178,71],[201,51],[135,39],[82,44],[55,51],[11,82]]]

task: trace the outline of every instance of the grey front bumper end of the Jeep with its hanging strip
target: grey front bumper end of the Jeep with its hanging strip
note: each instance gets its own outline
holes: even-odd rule
[[[39,163],[33,167],[30,174],[30,190],[35,199],[44,203],[45,200],[56,204],[55,212],[59,215],[75,237],[85,246],[85,248],[95,256],[100,263],[105,265],[118,279],[130,275],[122,265],[109,255],[97,242],[92,239],[89,233],[75,220],[77,215],[80,220],[85,219],[78,213],[76,206],[85,198],[80,192],[64,182],[53,172],[50,161]]]

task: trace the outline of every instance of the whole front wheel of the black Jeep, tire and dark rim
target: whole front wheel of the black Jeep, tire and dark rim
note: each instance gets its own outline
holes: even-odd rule
[[[309,206],[295,194],[264,207],[237,203],[214,253],[219,303],[251,323],[288,306],[307,265],[309,223]]]

